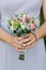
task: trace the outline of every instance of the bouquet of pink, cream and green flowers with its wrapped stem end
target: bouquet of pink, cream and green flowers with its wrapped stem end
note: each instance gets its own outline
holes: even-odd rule
[[[27,12],[16,13],[12,18],[7,19],[7,26],[13,36],[25,37],[27,33],[33,32],[36,28],[35,18],[28,15]],[[25,52],[19,54],[19,59],[25,60]]]

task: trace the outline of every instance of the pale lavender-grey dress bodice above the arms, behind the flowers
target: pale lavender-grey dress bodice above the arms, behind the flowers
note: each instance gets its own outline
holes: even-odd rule
[[[7,30],[6,17],[12,17],[14,12],[27,11],[30,16],[36,18],[35,24],[40,25],[40,11],[42,0],[0,0],[1,26]]]

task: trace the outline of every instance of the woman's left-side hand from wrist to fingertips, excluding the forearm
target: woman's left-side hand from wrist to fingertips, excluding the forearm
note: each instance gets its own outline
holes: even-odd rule
[[[13,45],[13,47],[18,52],[24,52],[25,47],[22,47],[22,44],[19,43],[19,37],[11,37],[10,44]]]

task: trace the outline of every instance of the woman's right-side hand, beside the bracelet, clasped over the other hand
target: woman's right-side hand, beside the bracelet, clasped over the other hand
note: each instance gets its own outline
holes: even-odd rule
[[[36,36],[34,33],[29,33],[26,37],[20,38],[20,41],[22,42],[24,47],[30,48],[36,43]]]

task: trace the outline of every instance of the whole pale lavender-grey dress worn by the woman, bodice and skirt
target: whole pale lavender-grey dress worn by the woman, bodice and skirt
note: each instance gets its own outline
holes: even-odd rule
[[[30,16],[36,18],[35,24],[40,26],[42,3],[43,0],[0,0],[1,27],[10,32],[6,17],[12,17],[15,11],[28,11]],[[19,60],[18,56],[19,52],[16,52],[11,44],[0,41],[0,70],[43,70],[45,59],[43,39],[25,52],[25,60]]]

